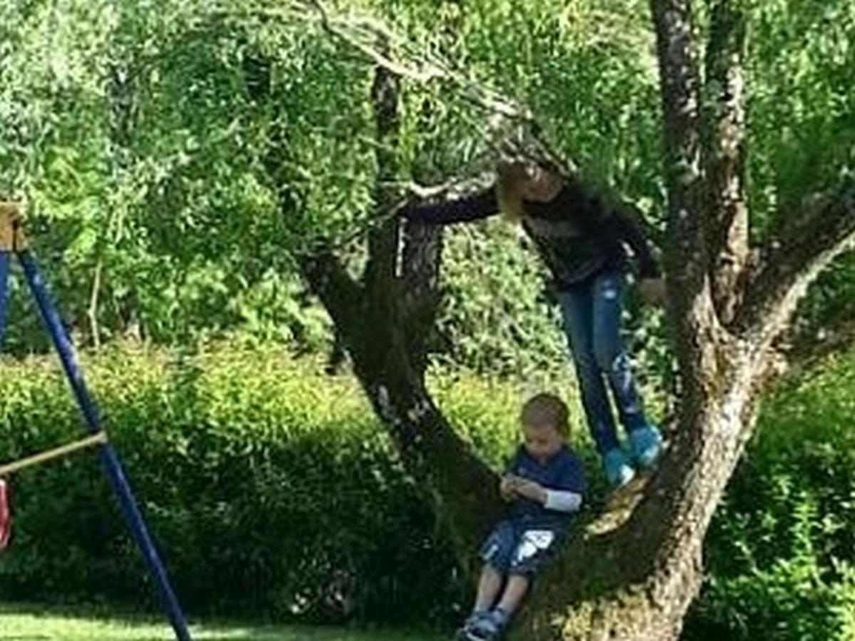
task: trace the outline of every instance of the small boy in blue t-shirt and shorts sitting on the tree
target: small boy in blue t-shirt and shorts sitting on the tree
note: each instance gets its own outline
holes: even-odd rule
[[[502,636],[534,573],[581,507],[585,476],[564,443],[567,406],[551,394],[538,394],[523,406],[521,422],[523,443],[499,485],[509,514],[481,548],[485,564],[475,608],[457,631],[461,641]]]

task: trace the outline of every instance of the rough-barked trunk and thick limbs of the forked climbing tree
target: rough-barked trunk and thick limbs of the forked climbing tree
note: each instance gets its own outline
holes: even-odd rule
[[[701,584],[705,532],[752,433],[758,398],[780,373],[775,342],[811,281],[855,241],[850,183],[809,199],[811,211],[799,212],[804,223],[787,238],[751,250],[742,3],[713,3],[706,84],[690,5],[651,0],[667,150],[664,262],[682,381],[675,438],[652,478],[617,492],[601,515],[575,530],[539,580],[511,632],[515,640],[678,638]],[[385,60],[382,44],[378,51],[383,56],[374,60]],[[372,91],[385,184],[398,173],[394,153],[385,151],[394,149],[398,126],[391,67],[378,66]],[[376,202],[380,214],[391,207],[381,187]],[[462,566],[474,573],[474,552],[499,501],[493,473],[457,437],[424,384],[423,337],[433,322],[440,248],[439,230],[392,218],[371,232],[361,279],[331,251],[305,259],[303,269],[404,465],[428,491]],[[851,332],[848,319],[840,326]],[[799,345],[811,348],[811,338]]]

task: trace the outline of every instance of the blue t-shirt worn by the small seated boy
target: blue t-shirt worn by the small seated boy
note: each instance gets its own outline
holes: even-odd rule
[[[511,460],[507,473],[522,476],[525,479],[539,483],[547,490],[571,491],[576,494],[585,493],[585,471],[578,456],[562,445],[554,455],[544,463],[540,463],[528,451],[520,446]],[[545,524],[554,522],[556,526],[569,520],[572,514],[545,509],[537,501],[528,498],[517,498],[511,505],[511,515],[526,520],[544,521]]]

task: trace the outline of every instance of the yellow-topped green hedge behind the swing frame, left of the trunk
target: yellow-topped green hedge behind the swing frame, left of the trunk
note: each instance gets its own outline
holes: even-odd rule
[[[85,359],[85,370],[192,612],[423,620],[461,605],[451,550],[352,379],[239,346],[113,347]],[[80,435],[58,364],[5,362],[0,381],[4,459]],[[499,465],[515,442],[518,394],[469,378],[435,385]],[[150,603],[96,459],[33,468],[14,485],[4,599]]]

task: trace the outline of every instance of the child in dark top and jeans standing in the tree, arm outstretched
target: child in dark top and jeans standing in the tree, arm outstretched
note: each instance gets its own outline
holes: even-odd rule
[[[615,487],[626,485],[637,470],[652,469],[663,450],[662,434],[646,414],[621,336],[633,264],[642,297],[655,303],[666,299],[657,262],[634,215],[554,166],[505,160],[498,163],[497,175],[495,185],[473,196],[410,204],[401,215],[446,224],[478,221],[501,211],[522,226],[551,273],[582,408],[606,478]],[[612,404],[628,447],[618,435]]]

